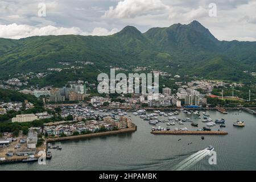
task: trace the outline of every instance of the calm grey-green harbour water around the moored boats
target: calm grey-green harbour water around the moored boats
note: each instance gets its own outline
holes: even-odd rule
[[[172,170],[184,159],[212,145],[217,152],[217,165],[209,165],[209,156],[193,158],[191,165],[183,170],[255,170],[256,169],[256,116],[238,111],[229,111],[223,115],[217,111],[207,111],[213,121],[225,118],[229,135],[225,136],[175,136],[152,135],[151,125],[131,113],[133,122],[138,130],[132,134],[121,134],[109,137],[82,139],[76,141],[55,142],[61,145],[62,150],[52,150],[52,159],[47,165],[38,163],[17,163],[0,166],[0,170]],[[201,115],[202,112],[200,112]],[[205,126],[203,119],[196,116],[180,113],[177,118],[191,117],[192,121],[199,123],[199,128]],[[202,117],[202,116],[201,116]],[[167,120],[167,117],[158,117]],[[203,117],[202,117],[203,118]],[[233,126],[237,119],[246,122],[244,128]],[[166,127],[166,123],[158,126]],[[187,127],[191,129],[191,122],[184,125],[171,126]],[[212,127],[218,129],[218,125]],[[196,130],[196,128],[193,128]],[[179,140],[181,139],[181,140]],[[188,143],[191,143],[189,144]]]

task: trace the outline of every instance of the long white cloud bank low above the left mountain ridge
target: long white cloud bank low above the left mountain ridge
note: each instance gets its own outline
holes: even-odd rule
[[[44,35],[111,35],[118,32],[116,28],[108,31],[106,28],[96,27],[92,32],[83,32],[79,27],[55,27],[44,26],[34,27],[27,24],[0,24],[0,38],[21,39],[29,36],[44,36]]]

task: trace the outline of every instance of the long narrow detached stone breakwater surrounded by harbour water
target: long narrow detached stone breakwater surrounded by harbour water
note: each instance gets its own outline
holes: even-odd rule
[[[226,131],[151,131],[154,135],[228,135]]]

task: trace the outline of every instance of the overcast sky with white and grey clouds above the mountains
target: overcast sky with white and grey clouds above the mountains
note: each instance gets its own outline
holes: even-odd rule
[[[256,41],[256,0],[0,0],[0,38],[112,35],[123,27],[188,24],[218,40]]]

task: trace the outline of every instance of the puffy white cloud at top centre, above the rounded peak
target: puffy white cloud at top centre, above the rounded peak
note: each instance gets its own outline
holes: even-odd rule
[[[168,6],[160,0],[124,0],[118,2],[117,6],[109,7],[103,18],[134,18],[147,14],[160,14],[167,10]]]

